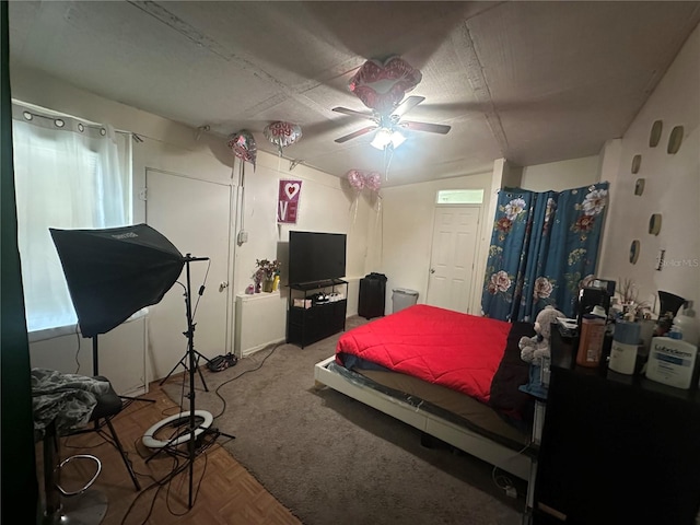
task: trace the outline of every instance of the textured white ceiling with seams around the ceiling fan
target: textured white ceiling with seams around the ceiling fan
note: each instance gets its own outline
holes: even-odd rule
[[[298,124],[283,156],[386,184],[597,154],[620,137],[700,20],[699,2],[12,1],[11,66],[200,127],[222,140]],[[393,154],[348,81],[368,59],[400,56],[422,73],[405,118],[452,127],[407,132]],[[697,72],[696,72],[697,74]]]

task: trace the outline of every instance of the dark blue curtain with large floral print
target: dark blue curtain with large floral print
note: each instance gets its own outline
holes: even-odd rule
[[[534,320],[547,305],[572,317],[595,275],[608,183],[564,191],[503,188],[481,294],[483,315]]]

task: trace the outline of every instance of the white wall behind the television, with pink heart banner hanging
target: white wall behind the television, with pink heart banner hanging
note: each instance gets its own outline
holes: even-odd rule
[[[235,254],[235,278],[233,289],[238,304],[250,308],[249,313],[237,312],[238,334],[234,341],[240,355],[259,350],[267,343],[284,338],[287,326],[287,302],[289,290],[287,266],[289,232],[313,231],[348,234],[346,279],[348,285],[347,315],[358,312],[359,277],[364,275],[369,221],[368,195],[355,194],[347,180],[330,176],[300,164],[291,172],[290,161],[258,152],[255,172],[245,164],[241,228],[248,233],[248,242],[238,246]],[[277,224],[277,197],[280,179],[302,182],[296,224]],[[366,190],[365,190],[366,191]],[[357,206],[357,212],[355,212]],[[246,301],[241,295],[253,283],[256,259],[278,259],[282,288],[265,301]],[[260,319],[269,313],[265,323],[245,323],[241,319]],[[255,313],[254,313],[255,311]]]

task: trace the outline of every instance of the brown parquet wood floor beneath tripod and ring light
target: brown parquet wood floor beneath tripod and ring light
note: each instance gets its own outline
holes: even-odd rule
[[[179,407],[163,393],[158,382],[150,386],[149,394],[142,398],[154,399],[155,402],[133,401],[113,420],[141,483],[140,492],[136,491],[116,448],[97,433],[61,439],[61,459],[74,454],[93,454],[102,462],[102,472],[92,489],[104,493],[108,500],[103,525],[301,525],[221,446],[223,440],[228,439],[224,436],[219,436],[194,464],[194,504],[188,510],[188,469],[167,483],[158,482],[172,471],[177,460],[182,465],[184,459],[161,453],[147,463],[151,451],[141,444],[145,430],[165,417],[177,413]],[[36,458],[37,478],[43,492],[42,443],[37,444]],[[77,490],[82,487],[94,474],[91,463],[69,463],[61,470],[63,489]]]

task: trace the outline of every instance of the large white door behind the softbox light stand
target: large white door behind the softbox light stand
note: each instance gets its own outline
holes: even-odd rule
[[[207,358],[231,351],[232,308],[230,238],[232,187],[147,168],[145,221],[191,257],[189,262],[195,350]],[[149,342],[152,378],[165,377],[187,351],[185,288],[187,265],[163,300],[150,307]],[[201,287],[205,287],[200,295]],[[187,361],[184,361],[187,363]],[[203,362],[201,362],[203,364]]]

